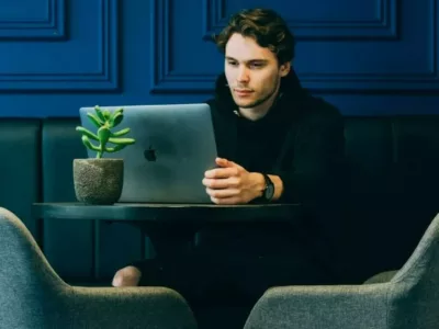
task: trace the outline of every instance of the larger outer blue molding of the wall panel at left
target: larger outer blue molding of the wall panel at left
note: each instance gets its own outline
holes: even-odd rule
[[[0,91],[116,91],[119,90],[119,0],[100,0],[99,67],[88,72],[0,72]],[[42,46],[44,46],[42,44]],[[71,56],[66,54],[66,56]]]

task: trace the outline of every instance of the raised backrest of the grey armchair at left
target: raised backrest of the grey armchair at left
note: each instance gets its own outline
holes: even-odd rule
[[[23,314],[34,328],[56,318],[68,305],[52,298],[64,285],[26,226],[10,211],[0,207],[0,322],[16,328]],[[48,316],[47,316],[48,315]],[[15,325],[12,325],[15,324]]]

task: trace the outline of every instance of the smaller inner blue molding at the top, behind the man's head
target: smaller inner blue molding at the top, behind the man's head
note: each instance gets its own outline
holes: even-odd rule
[[[376,15],[365,20],[292,20],[285,16],[288,25],[297,39],[397,39],[398,1],[376,0]],[[202,0],[203,39],[226,26],[225,0]]]

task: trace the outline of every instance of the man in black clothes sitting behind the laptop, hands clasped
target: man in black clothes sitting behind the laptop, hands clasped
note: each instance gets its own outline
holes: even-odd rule
[[[273,285],[339,282],[329,265],[342,243],[341,220],[330,215],[342,191],[341,115],[301,87],[293,35],[275,12],[237,13],[216,44],[225,73],[209,104],[219,158],[201,183],[215,204],[302,203],[306,215],[294,227],[206,228],[191,254],[135,263],[117,271],[113,285],[165,285],[191,305],[224,298],[251,307]]]

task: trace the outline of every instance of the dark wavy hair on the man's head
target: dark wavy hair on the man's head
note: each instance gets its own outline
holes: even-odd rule
[[[285,21],[270,9],[246,9],[234,14],[227,26],[214,36],[224,54],[228,39],[234,33],[254,38],[261,47],[269,48],[280,65],[294,58],[295,39]]]

